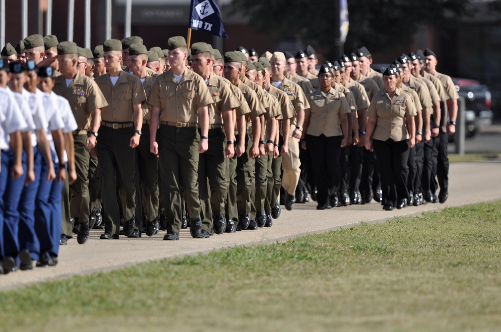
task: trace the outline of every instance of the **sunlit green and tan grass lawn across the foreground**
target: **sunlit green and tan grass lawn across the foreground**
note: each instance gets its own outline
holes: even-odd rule
[[[166,259],[2,292],[0,329],[498,331],[500,236],[487,202]]]

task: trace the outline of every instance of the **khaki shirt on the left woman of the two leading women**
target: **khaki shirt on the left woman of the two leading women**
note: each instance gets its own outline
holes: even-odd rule
[[[305,109],[305,115],[310,115],[306,133],[314,136],[324,134],[327,137],[342,135],[341,114],[351,113],[345,95],[331,87],[327,93],[321,89],[315,90],[307,98],[311,107]]]

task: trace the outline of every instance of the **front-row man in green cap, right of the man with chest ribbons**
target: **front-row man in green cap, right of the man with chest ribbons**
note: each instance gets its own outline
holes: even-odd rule
[[[108,73],[95,80],[109,104],[101,110],[102,121],[96,146],[105,207],[103,214],[105,232],[100,238],[119,238],[120,212],[115,195],[117,186],[125,218],[124,235],[141,237],[139,225],[136,225],[134,220],[136,208],[134,160],[135,147],[139,144],[142,133],[141,104],[146,100],[146,94],[139,78],[122,70],[120,40],[106,40],[103,43],[103,51]]]

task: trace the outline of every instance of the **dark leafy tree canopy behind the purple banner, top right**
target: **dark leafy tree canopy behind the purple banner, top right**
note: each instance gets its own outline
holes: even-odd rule
[[[334,0],[335,1],[335,0]],[[336,26],[333,0],[233,0],[260,32],[274,39],[295,36],[332,58]],[[345,52],[367,46],[379,51],[409,43],[420,26],[439,30],[469,15],[472,0],[348,0],[350,28]]]

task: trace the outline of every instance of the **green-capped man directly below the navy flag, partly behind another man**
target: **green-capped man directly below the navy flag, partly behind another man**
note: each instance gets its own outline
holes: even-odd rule
[[[234,96],[228,81],[211,73],[210,57],[210,47],[207,43],[195,42],[191,45],[191,68],[206,80],[214,101],[208,105],[208,149],[200,154],[198,162],[202,232],[210,233],[213,227],[216,234],[222,234],[226,230],[224,204],[229,187],[229,180],[225,176],[226,158],[232,158],[235,154],[233,112],[240,106],[240,101]]]

